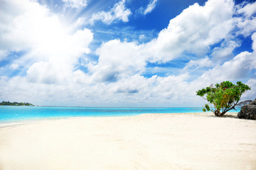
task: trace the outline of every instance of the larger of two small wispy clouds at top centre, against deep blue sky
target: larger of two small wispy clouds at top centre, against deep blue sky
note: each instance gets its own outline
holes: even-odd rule
[[[119,1],[117,4],[114,4],[113,8],[110,11],[100,11],[92,14],[90,18],[90,23],[93,24],[95,21],[102,21],[103,23],[110,24],[113,21],[123,21],[128,22],[129,15],[132,12],[124,6],[125,0]]]

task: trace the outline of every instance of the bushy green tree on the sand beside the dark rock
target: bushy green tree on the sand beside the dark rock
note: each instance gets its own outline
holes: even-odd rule
[[[203,106],[204,112],[212,111],[216,116],[223,116],[235,108],[242,94],[247,90],[250,90],[250,87],[242,84],[241,81],[238,81],[236,85],[230,81],[223,81],[220,84],[215,84],[215,87],[208,86],[206,89],[196,91],[196,95],[208,101]]]

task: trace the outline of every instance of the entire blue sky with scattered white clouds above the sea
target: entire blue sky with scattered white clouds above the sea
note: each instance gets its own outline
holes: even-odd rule
[[[0,101],[198,107],[222,81],[256,98],[256,2],[0,0]]]

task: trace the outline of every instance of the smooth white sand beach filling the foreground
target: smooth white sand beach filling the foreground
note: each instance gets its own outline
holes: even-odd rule
[[[72,118],[1,128],[0,169],[256,169],[256,121],[233,115]]]

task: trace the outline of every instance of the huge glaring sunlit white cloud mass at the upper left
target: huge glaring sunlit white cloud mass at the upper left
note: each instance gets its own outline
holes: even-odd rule
[[[18,10],[6,13],[9,16],[9,21],[4,23],[6,28],[0,26],[4,29],[0,31],[0,49],[6,53],[25,51],[12,61],[15,64],[11,68],[16,64],[27,68],[26,77],[31,82],[66,81],[72,76],[78,58],[90,52],[92,32],[85,28],[72,33],[46,6],[27,0],[23,0],[26,6],[19,3],[22,2],[6,3],[7,7]]]

